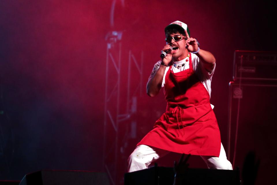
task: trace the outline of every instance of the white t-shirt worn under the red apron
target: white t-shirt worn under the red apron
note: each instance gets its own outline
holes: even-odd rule
[[[209,71],[207,71],[204,66],[203,63],[200,62],[200,59],[198,58],[197,55],[190,53],[191,55],[191,60],[192,60],[192,67],[193,70],[195,71],[196,75],[198,76],[199,80],[203,83],[204,87],[207,89],[207,91],[209,92],[209,95],[211,97],[211,82],[212,82],[212,76],[214,74],[214,70],[216,67],[214,67],[213,71],[211,73],[209,73]],[[186,60],[188,60],[186,62]],[[158,61],[155,65],[154,68],[152,70],[152,73],[148,79],[148,81],[154,76],[154,74],[156,73],[156,71],[159,69],[160,65],[161,65],[161,60]],[[173,62],[174,64],[176,64],[176,67],[174,65],[172,65],[171,67],[171,71],[173,71],[173,73],[178,73],[181,71],[184,71],[186,69],[190,68],[190,64],[189,64],[189,58],[186,57],[185,59],[178,61],[178,62]],[[184,66],[181,66],[182,64],[184,64]],[[181,66],[179,69],[177,69],[177,66]],[[167,73],[169,69],[169,66],[166,67],[165,71],[164,71],[164,77],[162,79],[162,87],[164,87],[165,84],[165,75]]]

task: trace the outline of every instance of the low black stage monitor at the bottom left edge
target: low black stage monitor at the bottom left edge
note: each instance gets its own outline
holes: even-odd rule
[[[104,172],[41,170],[23,177],[19,185],[109,185]]]

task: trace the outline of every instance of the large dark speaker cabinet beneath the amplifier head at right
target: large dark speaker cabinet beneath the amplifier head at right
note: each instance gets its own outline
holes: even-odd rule
[[[238,166],[243,172],[246,156],[254,153],[256,159],[252,165],[260,160],[256,184],[276,184],[276,105],[276,83],[229,84],[227,157],[233,167]]]

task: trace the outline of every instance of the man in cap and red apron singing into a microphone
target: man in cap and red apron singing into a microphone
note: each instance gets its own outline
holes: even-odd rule
[[[164,57],[154,65],[147,94],[154,97],[164,87],[166,112],[130,155],[128,172],[146,169],[171,151],[199,155],[211,169],[232,170],[209,101],[216,59],[199,48],[185,23],[169,24],[165,35]]]

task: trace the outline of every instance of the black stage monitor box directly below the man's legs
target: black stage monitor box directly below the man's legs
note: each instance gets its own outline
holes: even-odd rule
[[[239,185],[239,170],[186,169],[182,174],[183,185]],[[174,170],[155,166],[149,169],[125,173],[124,185],[173,185]]]

